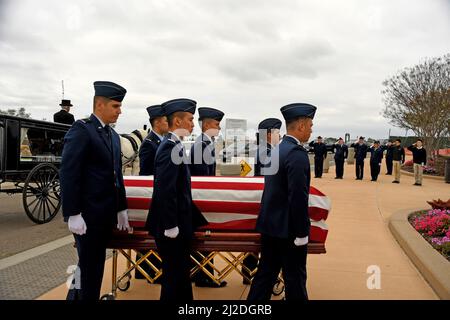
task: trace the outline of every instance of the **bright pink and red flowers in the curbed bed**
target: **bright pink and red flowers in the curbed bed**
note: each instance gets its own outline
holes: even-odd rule
[[[433,209],[415,214],[410,219],[413,227],[431,245],[449,259],[450,210]]]

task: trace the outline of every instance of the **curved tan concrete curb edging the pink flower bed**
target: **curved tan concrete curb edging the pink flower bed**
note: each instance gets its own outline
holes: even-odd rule
[[[450,262],[409,223],[408,216],[423,209],[402,210],[389,220],[389,229],[405,253],[442,300],[450,300]]]

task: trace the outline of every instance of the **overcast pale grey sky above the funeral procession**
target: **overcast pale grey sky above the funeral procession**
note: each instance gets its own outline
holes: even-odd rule
[[[381,116],[382,81],[449,39],[449,0],[0,0],[0,108],[52,119],[64,80],[82,118],[109,80],[128,90],[123,133],[186,97],[249,127],[307,102],[314,136],[404,135]]]

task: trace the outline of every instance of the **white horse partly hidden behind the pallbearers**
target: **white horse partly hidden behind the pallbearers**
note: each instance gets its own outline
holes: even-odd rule
[[[120,134],[122,172],[131,167],[131,175],[139,174],[139,148],[150,130],[136,129],[130,134]]]

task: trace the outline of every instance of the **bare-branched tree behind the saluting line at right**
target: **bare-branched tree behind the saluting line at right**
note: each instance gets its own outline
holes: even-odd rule
[[[383,82],[383,116],[422,137],[434,158],[450,134],[450,54],[426,59]]]

